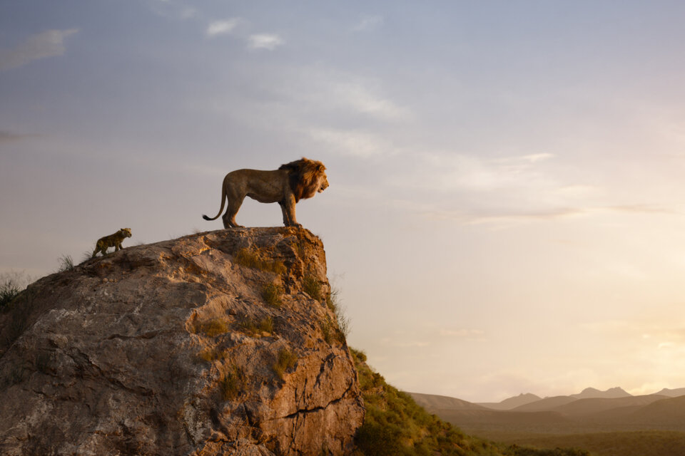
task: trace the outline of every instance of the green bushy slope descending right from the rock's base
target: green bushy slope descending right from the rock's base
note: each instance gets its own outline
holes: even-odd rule
[[[366,355],[352,349],[366,416],[357,432],[357,456],[589,456],[576,449],[536,450],[500,445],[465,435],[430,415],[407,393],[385,383],[367,365]]]

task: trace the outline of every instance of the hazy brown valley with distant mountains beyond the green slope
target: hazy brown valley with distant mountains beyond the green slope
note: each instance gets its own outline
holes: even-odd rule
[[[552,398],[522,394],[499,403],[410,395],[465,432],[509,445],[577,447],[598,456],[685,454],[683,388],[637,396],[621,388],[587,388]]]

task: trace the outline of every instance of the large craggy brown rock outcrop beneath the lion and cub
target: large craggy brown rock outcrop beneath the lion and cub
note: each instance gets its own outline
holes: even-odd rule
[[[0,313],[0,454],[350,454],[364,408],[329,293],[295,228],[46,276]]]

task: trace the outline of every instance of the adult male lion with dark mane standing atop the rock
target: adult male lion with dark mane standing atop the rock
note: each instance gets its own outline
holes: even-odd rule
[[[322,162],[302,157],[300,160],[280,165],[278,170],[235,170],[223,178],[221,187],[221,208],[215,217],[203,215],[205,220],[215,220],[223,212],[223,204],[228,209],[223,214],[224,228],[243,228],[235,222],[235,214],[245,197],[258,202],[278,202],[283,210],[283,224],[286,227],[301,227],[295,219],[295,203],[300,199],[311,198],[328,187],[326,167]]]

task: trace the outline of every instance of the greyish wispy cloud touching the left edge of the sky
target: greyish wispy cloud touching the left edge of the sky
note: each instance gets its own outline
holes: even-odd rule
[[[64,38],[76,32],[76,28],[47,30],[29,36],[14,49],[0,49],[0,71],[19,68],[39,58],[61,56],[66,51]]]

